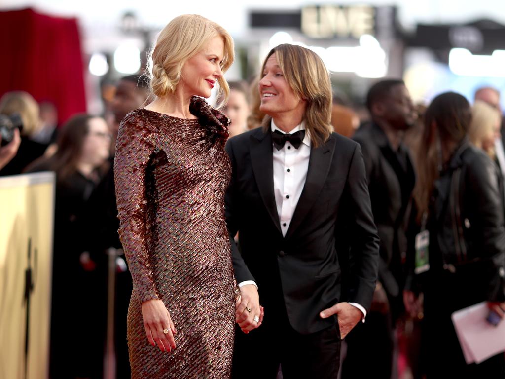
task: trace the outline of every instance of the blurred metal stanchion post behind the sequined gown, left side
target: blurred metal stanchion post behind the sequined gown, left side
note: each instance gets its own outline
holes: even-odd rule
[[[116,259],[122,249],[109,248],[107,274],[107,336],[104,356],[104,379],[116,379],[116,348],[114,344],[114,310],[116,300]]]

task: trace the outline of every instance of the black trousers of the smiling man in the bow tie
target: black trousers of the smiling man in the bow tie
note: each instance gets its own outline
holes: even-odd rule
[[[280,365],[283,379],[336,379],[340,366],[338,323],[302,335],[291,327],[283,303],[273,308],[265,306],[263,324],[249,334],[237,326],[232,378],[275,379]]]

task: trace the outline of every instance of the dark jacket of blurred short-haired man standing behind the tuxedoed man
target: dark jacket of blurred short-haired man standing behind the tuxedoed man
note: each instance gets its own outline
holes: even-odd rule
[[[374,124],[361,126],[352,136],[362,150],[372,213],[380,238],[379,279],[387,294],[401,295],[405,280],[401,256],[407,254],[405,213],[415,184],[407,147],[391,149],[386,134]],[[400,157],[402,163],[398,160]]]

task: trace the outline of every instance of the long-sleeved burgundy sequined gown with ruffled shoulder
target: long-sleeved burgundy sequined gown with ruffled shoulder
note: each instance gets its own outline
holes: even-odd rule
[[[227,378],[235,283],[224,217],[229,120],[193,97],[198,119],[137,109],[122,121],[114,176],[119,234],[133,278],[128,348],[133,378]],[[161,299],[177,334],[162,352],[141,303]]]

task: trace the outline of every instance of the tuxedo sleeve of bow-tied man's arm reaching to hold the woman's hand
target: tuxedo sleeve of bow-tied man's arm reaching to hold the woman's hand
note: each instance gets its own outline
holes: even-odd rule
[[[230,239],[230,247],[231,247],[231,256],[233,259],[233,269],[235,271],[235,279],[237,283],[240,283],[245,280],[254,280],[254,276],[250,273],[247,265],[245,264],[242,254],[238,250],[237,244],[235,243],[234,237],[239,230],[238,220],[240,215],[238,214],[237,204],[237,192],[235,187],[235,178],[237,174],[237,165],[235,161],[235,156],[233,154],[232,141],[228,141],[225,146],[225,150],[228,153],[231,161],[231,179],[230,184],[228,185],[228,189],[226,190],[225,195],[225,215],[226,215],[226,224],[228,226],[228,236]]]

